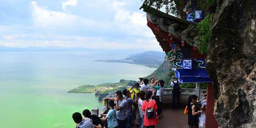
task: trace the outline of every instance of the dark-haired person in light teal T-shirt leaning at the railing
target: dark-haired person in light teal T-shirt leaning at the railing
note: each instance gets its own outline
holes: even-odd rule
[[[107,120],[108,128],[118,128],[116,110],[114,110],[114,101],[109,100],[108,107],[110,107],[110,110],[108,111],[107,114],[100,113],[101,116],[105,116],[105,118],[101,118],[101,119],[102,121]]]

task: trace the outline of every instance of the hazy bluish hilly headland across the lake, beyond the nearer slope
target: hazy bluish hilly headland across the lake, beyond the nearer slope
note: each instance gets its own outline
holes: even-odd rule
[[[165,53],[147,51],[143,53],[130,54],[129,57],[120,60],[95,60],[96,62],[141,64],[152,68],[158,68],[164,62]]]

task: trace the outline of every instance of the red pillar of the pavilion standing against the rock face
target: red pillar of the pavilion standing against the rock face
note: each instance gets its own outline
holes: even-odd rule
[[[212,82],[208,82],[207,86],[207,108],[206,108],[206,128],[218,128],[219,124],[213,114],[214,105],[214,88]]]

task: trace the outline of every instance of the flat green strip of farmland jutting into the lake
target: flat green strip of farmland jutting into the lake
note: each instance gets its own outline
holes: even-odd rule
[[[104,83],[100,85],[83,85],[76,87],[75,89],[69,90],[69,93],[91,93],[91,92],[114,92],[120,90],[123,87],[128,86],[129,82],[118,82],[118,83]],[[108,87],[108,88],[106,88]]]

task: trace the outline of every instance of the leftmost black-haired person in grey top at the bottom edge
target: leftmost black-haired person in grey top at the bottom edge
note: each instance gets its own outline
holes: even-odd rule
[[[74,122],[76,123],[76,128],[94,128],[91,119],[86,118],[85,121],[82,120],[82,115],[79,112],[75,112],[72,115]]]

